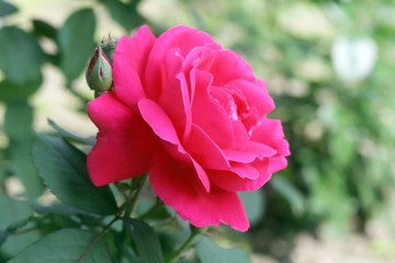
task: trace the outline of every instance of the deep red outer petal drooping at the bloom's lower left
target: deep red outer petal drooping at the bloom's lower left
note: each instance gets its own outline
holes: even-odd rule
[[[88,103],[88,114],[99,128],[98,141],[87,159],[93,184],[100,186],[148,171],[156,141],[136,113],[108,92]]]

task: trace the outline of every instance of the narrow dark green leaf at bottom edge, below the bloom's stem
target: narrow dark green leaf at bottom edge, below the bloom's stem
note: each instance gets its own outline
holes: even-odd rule
[[[159,238],[149,225],[132,218],[125,219],[124,224],[137,245],[137,253],[142,263],[163,262]]]

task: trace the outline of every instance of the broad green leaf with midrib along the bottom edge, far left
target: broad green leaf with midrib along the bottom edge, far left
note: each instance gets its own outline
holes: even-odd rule
[[[61,229],[29,247],[9,263],[76,263],[98,235],[81,229]],[[112,262],[102,240],[89,250],[83,263]]]

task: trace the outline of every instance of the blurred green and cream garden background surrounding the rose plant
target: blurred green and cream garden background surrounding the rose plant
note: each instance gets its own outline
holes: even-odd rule
[[[204,30],[268,83],[292,156],[242,194],[253,262],[395,261],[393,0],[0,0],[0,230],[47,202],[34,130],[94,135],[88,58],[142,24]],[[37,237],[8,239],[0,261]]]

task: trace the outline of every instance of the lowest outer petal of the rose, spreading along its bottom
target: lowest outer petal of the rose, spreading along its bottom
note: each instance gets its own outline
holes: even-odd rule
[[[149,180],[155,193],[165,204],[173,207],[193,226],[219,226],[223,222],[239,231],[249,228],[238,195],[217,187],[212,187],[206,193],[198,187],[195,171],[191,167],[158,155],[149,170]]]

